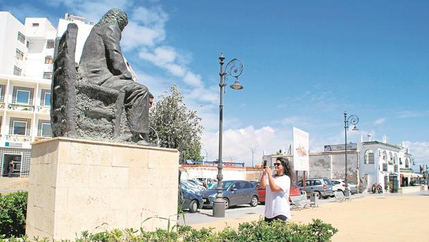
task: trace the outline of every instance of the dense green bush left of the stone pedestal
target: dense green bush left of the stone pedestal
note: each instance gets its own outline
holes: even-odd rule
[[[20,237],[26,231],[28,192],[0,196],[0,236]]]

